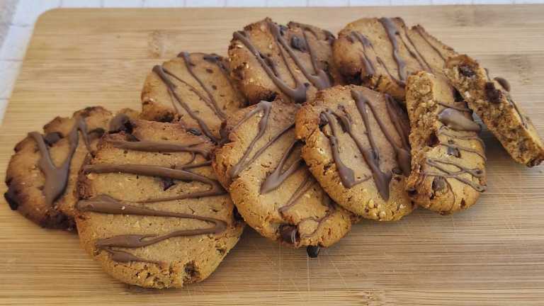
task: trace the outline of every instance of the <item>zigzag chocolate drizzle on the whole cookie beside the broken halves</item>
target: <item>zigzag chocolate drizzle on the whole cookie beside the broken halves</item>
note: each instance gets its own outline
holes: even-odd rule
[[[341,111],[343,111],[344,114],[339,114],[332,111],[331,109],[327,109],[326,111],[322,112],[322,116],[324,116],[323,118],[324,121],[329,123],[330,125],[331,135],[327,135],[327,137],[329,138],[329,142],[331,143],[331,149],[332,149],[333,159],[336,164],[336,169],[338,169],[340,180],[342,184],[344,185],[344,187],[346,188],[351,188],[357,185],[358,183],[361,183],[363,181],[367,181],[368,179],[370,179],[370,177],[366,176],[363,179],[356,180],[353,169],[349,168],[348,166],[346,166],[346,164],[344,164],[344,162],[341,161],[339,145],[338,145],[339,129],[336,126],[336,120],[334,120],[334,117],[338,118],[339,120],[338,122],[341,124],[342,130],[348,133],[348,135],[351,137],[353,142],[355,142],[359,151],[363,154],[363,159],[365,159],[366,164],[368,165],[370,171],[373,174],[373,179],[376,184],[376,187],[378,188],[378,192],[380,193],[380,196],[382,196],[384,200],[388,200],[389,199],[389,183],[391,181],[392,174],[390,173],[386,174],[380,169],[380,152],[378,150],[378,145],[376,145],[375,143],[372,129],[370,128],[370,120],[368,118],[367,107],[370,109],[370,112],[373,114],[373,117],[378,123],[380,130],[385,135],[387,142],[389,142],[392,148],[395,150],[397,163],[399,164],[405,176],[409,175],[410,162],[411,162],[411,156],[409,153],[409,145],[407,142],[406,131],[398,123],[400,121],[399,114],[397,113],[397,111],[394,110],[395,104],[392,104],[392,103],[395,103],[395,102],[391,101],[390,98],[385,99],[387,114],[389,115],[389,119],[393,123],[397,134],[402,140],[401,145],[398,145],[397,142],[395,142],[390,132],[385,128],[385,123],[383,123],[382,119],[378,116],[374,106],[372,105],[372,103],[370,103],[370,101],[368,101],[367,98],[365,98],[365,96],[363,95],[361,91],[351,90],[351,97],[355,101],[358,112],[361,115],[361,118],[363,119],[363,123],[365,125],[365,135],[368,137],[370,149],[366,148],[361,142],[361,140],[359,140],[358,137],[354,135],[353,130],[351,128],[351,118],[349,114],[346,113],[345,108],[340,107]]]

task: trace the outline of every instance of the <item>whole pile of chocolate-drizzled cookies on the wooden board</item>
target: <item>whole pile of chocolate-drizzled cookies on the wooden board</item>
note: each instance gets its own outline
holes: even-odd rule
[[[141,111],[89,107],[15,147],[4,197],[43,227],[77,228],[111,276],[150,288],[207,278],[245,225],[310,257],[362,218],[448,214],[486,189],[475,112],[511,157],[544,144],[505,79],[401,18],[332,33],[270,19],[228,60],[152,67]]]

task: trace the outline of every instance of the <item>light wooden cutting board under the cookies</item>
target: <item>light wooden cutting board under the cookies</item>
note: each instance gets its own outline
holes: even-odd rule
[[[36,24],[0,132],[0,179],[26,132],[85,106],[139,109],[154,64],[181,50],[224,55],[234,30],[265,16],[333,32],[363,16],[422,23],[509,79],[544,135],[544,6],[62,9]],[[483,137],[489,189],[470,210],[363,221],[317,259],[247,229],[208,280],[180,290],[119,283],[75,234],[41,229],[0,203],[0,304],[543,305],[544,166],[514,164]]]

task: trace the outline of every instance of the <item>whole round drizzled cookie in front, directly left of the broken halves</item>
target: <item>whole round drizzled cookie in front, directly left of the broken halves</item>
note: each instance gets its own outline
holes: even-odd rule
[[[390,96],[361,86],[319,91],[296,116],[302,158],[332,200],[371,220],[399,220],[414,209],[409,123]]]

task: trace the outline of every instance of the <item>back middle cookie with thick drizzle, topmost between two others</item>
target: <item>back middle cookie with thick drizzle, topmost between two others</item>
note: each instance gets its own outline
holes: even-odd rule
[[[232,78],[249,103],[302,103],[334,84],[334,35],[302,23],[287,26],[270,18],[234,32],[229,45]]]

